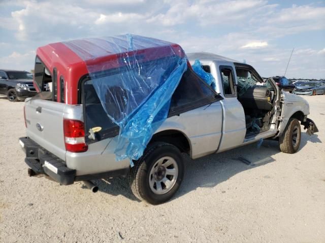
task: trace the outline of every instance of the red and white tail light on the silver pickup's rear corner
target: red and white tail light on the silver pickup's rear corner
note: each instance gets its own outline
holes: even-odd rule
[[[85,152],[88,149],[85,143],[85,129],[80,120],[63,119],[64,144],[70,152]]]

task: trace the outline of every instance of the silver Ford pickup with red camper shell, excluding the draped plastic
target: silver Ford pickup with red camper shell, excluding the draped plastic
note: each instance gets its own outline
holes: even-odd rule
[[[187,58],[168,118],[131,167],[128,159],[115,159],[119,129],[104,112],[82,60],[64,45],[39,48],[35,84],[52,82],[52,89],[25,101],[26,137],[19,142],[29,176],[45,174],[61,185],[85,181],[93,191],[98,188],[90,180],[127,176],[139,199],[160,204],[182,182],[181,153],[196,159],[261,139],[278,140],[282,152],[295,153],[301,125],[308,134],[318,131],[307,118],[306,100],[279,90],[272,79],[264,82],[252,66],[210,53]],[[191,68],[197,60],[213,76],[213,86]],[[96,127],[102,128],[92,130],[96,136],[88,133]]]

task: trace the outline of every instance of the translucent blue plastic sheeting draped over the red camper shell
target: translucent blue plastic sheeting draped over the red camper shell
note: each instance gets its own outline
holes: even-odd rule
[[[64,43],[86,63],[107,115],[120,128],[116,160],[139,159],[167,118],[187,58],[182,48],[139,35]]]

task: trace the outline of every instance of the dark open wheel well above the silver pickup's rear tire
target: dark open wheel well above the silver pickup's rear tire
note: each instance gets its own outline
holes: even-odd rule
[[[150,140],[152,142],[166,142],[173,144],[177,147],[181,152],[185,152],[190,154],[190,145],[186,136],[177,130],[167,130],[156,133]]]

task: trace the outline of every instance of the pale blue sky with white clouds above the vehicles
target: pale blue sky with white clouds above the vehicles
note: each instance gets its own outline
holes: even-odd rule
[[[325,78],[325,1],[0,0],[0,68],[34,69],[36,49],[139,34],[246,62],[264,77]]]

